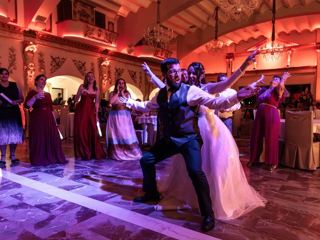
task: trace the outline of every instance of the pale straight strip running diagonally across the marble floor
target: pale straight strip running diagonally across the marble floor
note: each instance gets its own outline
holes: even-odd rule
[[[25,176],[20,176],[15,173],[11,173],[0,169],[0,177],[4,177],[8,180],[14,181],[21,185],[45,192],[47,194],[59,197],[61,199],[76,203],[81,206],[99,211],[109,216],[130,222],[132,224],[147,228],[149,230],[161,233],[166,236],[170,236],[176,239],[186,240],[220,240],[219,238],[203,234],[201,232],[193,231],[166,221],[162,221],[150,216],[146,216],[140,213],[136,213],[127,209],[123,209],[118,206],[113,206],[106,202],[98,201],[87,196],[70,192],[56,186],[52,186],[46,183],[42,183]],[[200,227],[200,226],[199,226]]]

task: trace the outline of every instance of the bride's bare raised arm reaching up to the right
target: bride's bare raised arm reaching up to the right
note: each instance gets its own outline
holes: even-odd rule
[[[259,47],[260,46],[255,48],[254,51],[252,51],[251,54],[245,58],[241,66],[236,71],[234,71],[228,79],[220,82],[207,83],[206,89],[208,93],[210,94],[218,93],[232,86],[240,78],[240,76],[244,74],[245,69],[255,61],[256,55],[260,53],[260,51],[258,50]]]

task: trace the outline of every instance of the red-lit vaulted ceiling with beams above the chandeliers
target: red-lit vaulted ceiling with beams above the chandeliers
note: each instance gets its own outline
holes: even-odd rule
[[[117,50],[126,53],[142,37],[143,30],[156,24],[156,0],[85,0],[117,19]],[[24,21],[38,11],[52,12],[59,0],[24,0]],[[276,38],[279,35],[313,32],[320,29],[320,0],[276,0]],[[53,6],[54,5],[54,6]],[[213,11],[220,0],[161,0],[160,24],[174,32],[172,41],[177,58],[190,52],[205,51],[205,44],[214,39]],[[253,15],[247,20],[229,20],[219,10],[218,37],[230,44],[243,44],[249,49],[271,37],[272,0],[258,0]],[[33,19],[34,20],[34,19]],[[26,24],[27,25],[27,24]],[[290,39],[286,39],[289,41]]]

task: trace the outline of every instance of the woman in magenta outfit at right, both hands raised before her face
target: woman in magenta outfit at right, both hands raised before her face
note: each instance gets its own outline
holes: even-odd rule
[[[258,109],[253,121],[250,135],[250,160],[248,167],[258,162],[262,153],[263,138],[265,144],[265,164],[272,171],[278,164],[278,138],[280,133],[280,117],[277,110],[280,101],[287,96],[284,83],[290,73],[284,72],[282,77],[274,75],[268,89],[263,87],[256,95]]]

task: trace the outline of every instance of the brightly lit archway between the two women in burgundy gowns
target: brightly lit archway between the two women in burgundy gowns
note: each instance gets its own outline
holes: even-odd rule
[[[57,92],[62,91],[62,100],[67,100],[71,94],[76,94],[81,83],[83,83],[83,79],[75,76],[53,76],[46,79],[44,90],[51,94],[52,100],[55,98]]]

